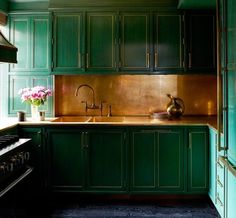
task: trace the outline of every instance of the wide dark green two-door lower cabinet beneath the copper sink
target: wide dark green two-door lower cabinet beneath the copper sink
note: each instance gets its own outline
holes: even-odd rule
[[[54,191],[126,191],[125,137],[125,131],[117,129],[48,129],[51,188]]]

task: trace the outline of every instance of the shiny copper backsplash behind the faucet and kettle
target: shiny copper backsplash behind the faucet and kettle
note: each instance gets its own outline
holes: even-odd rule
[[[103,115],[112,106],[113,115],[148,115],[165,111],[170,93],[184,100],[186,115],[215,115],[217,113],[217,81],[210,75],[78,75],[55,76],[55,115],[85,115],[81,101],[92,101],[92,92],[81,84],[89,84],[95,91],[95,102],[104,104]],[[87,115],[100,115],[99,109]]]

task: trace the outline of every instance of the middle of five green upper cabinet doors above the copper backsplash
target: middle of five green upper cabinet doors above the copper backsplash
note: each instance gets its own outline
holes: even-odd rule
[[[121,16],[120,70],[150,69],[149,14]]]

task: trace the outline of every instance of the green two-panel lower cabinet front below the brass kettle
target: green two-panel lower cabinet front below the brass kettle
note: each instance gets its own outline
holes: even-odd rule
[[[131,133],[131,192],[184,192],[184,135],[179,128]]]

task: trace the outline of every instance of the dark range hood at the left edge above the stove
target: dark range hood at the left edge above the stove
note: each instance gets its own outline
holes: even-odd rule
[[[17,50],[0,31],[0,62],[17,63]]]

